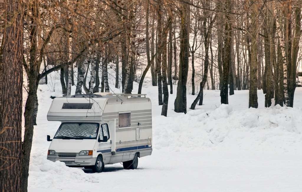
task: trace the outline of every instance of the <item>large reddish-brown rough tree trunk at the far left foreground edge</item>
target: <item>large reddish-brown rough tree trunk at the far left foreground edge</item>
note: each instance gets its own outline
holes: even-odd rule
[[[5,0],[0,55],[0,191],[21,191],[22,1]],[[2,63],[3,62],[3,63]],[[8,91],[9,90],[9,91]]]

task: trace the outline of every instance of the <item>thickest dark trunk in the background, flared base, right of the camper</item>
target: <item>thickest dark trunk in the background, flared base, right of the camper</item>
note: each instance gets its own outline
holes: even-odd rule
[[[180,53],[179,53],[179,80],[177,83],[177,93],[174,102],[174,111],[187,113],[187,78],[189,69],[189,23],[188,14],[190,13],[190,7],[188,6],[188,0],[185,0],[180,5]]]

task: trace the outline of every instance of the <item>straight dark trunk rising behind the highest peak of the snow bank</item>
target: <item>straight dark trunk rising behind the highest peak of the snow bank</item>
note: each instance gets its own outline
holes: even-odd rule
[[[230,18],[231,11],[231,0],[225,1],[224,11],[225,22],[224,22],[224,57],[223,57],[223,86],[220,90],[221,104],[229,104],[228,101],[228,82],[229,82],[229,68],[231,63],[231,37],[232,37],[232,24]]]

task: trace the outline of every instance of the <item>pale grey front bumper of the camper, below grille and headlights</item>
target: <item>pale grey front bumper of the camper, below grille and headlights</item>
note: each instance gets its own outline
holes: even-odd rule
[[[56,162],[64,162],[67,166],[89,166],[95,165],[96,158],[52,158],[47,157],[47,160]]]

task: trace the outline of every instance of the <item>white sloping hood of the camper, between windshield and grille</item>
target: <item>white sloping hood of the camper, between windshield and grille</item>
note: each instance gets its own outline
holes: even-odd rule
[[[49,150],[57,153],[79,153],[83,150],[93,150],[96,139],[53,139]]]

